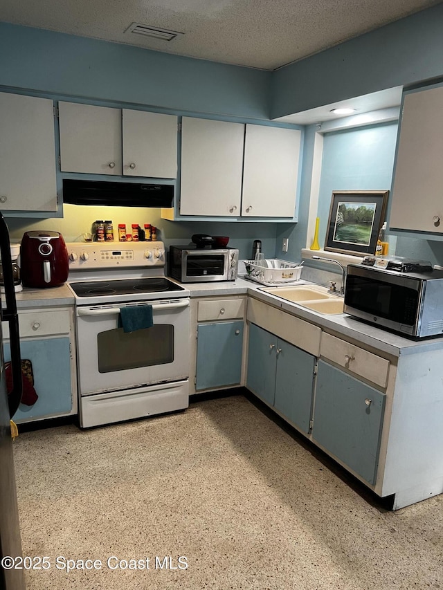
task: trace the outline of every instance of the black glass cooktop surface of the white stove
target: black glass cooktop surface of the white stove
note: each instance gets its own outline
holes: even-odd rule
[[[70,283],[78,297],[98,297],[100,295],[131,295],[131,293],[168,293],[183,291],[183,287],[165,279],[150,277],[147,279],[111,279],[107,281],[87,281]]]

